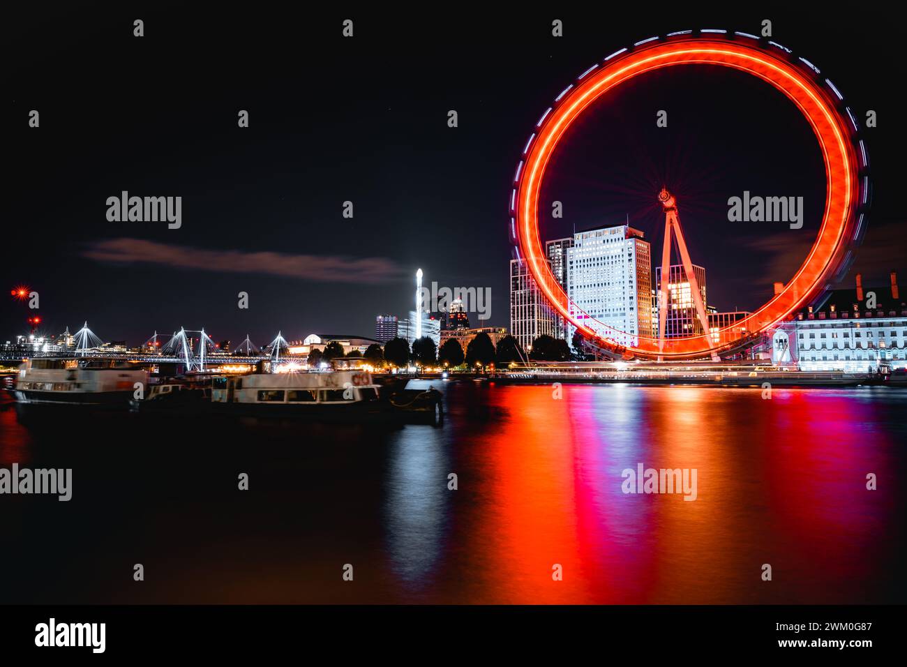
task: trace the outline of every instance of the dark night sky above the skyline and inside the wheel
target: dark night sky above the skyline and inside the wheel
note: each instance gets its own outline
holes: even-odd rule
[[[48,333],[87,319],[102,338],[131,344],[180,326],[234,344],[247,332],[266,343],[278,329],[372,336],[375,314],[411,307],[418,267],[442,286],[491,288],[488,323],[509,326],[507,203],[541,112],[622,46],[685,28],[756,33],[763,18],[858,117],[877,111],[866,135],[873,215],[855,269],[868,283],[888,270],[907,281],[893,184],[907,148],[895,91],[904,59],[881,13],[824,24],[774,10],[640,7],[617,19],[561,5],[300,15],[257,6],[193,15],[180,3],[88,4],[7,18],[0,339],[27,329],[30,313],[8,295],[18,284],[40,293]],[[135,18],[144,37],[132,36]],[[352,39],[341,36],[345,18]],[[39,129],[27,126],[31,109]],[[240,109],[248,129],[237,127]],[[658,109],[667,129],[655,127]],[[551,174],[544,196],[564,201],[565,218],[547,221],[546,236],[629,214],[655,255],[655,193],[662,183],[677,191],[719,309],[752,309],[789,278],[824,191],[814,138],[790,103],[701,66],[639,80],[597,106]],[[745,189],[803,195],[804,230],[795,239],[783,225],[731,226],[727,197]],[[106,199],[123,190],[181,196],[181,229],[107,221]]]

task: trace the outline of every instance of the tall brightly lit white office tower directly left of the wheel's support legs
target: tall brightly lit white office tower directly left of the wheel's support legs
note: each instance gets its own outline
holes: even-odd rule
[[[629,225],[578,231],[567,249],[571,315],[601,338],[638,346],[652,330],[650,256],[649,241]]]

